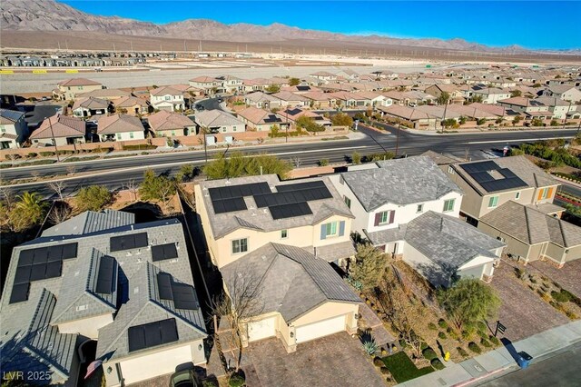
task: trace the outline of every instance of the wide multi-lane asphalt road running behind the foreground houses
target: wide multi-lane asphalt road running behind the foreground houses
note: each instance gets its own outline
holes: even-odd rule
[[[342,163],[350,159],[355,151],[359,154],[373,154],[384,151],[395,151],[397,128],[388,127],[388,131],[379,133],[359,125],[359,130],[368,134],[358,140],[327,141],[307,144],[275,144],[256,145],[237,148],[244,154],[269,153],[276,154],[287,160],[300,160],[301,166],[315,165],[321,159],[328,159],[330,164]],[[399,156],[421,154],[427,150],[438,153],[456,154],[474,159],[486,158],[491,148],[500,148],[506,144],[520,144],[537,141],[542,138],[568,137],[574,135],[574,129],[558,129],[551,131],[530,132],[501,132],[478,134],[411,134],[408,131],[399,132]],[[225,148],[213,149],[208,152],[208,157],[213,154],[225,152]],[[232,152],[231,148],[228,152]],[[487,151],[487,153],[482,152]],[[157,173],[167,172],[173,174],[182,164],[202,165],[204,163],[203,151],[175,152],[170,154],[151,154],[130,157],[121,157],[103,160],[91,160],[90,162],[61,163],[50,165],[35,165],[32,167],[8,168],[1,171],[3,180],[23,179],[34,174],[56,175],[66,174],[67,168],[74,165],[74,173],[67,180],[71,187],[81,184],[104,184],[111,189],[121,187],[123,183],[134,178],[136,181],[143,175],[145,168],[153,168]],[[90,172],[89,175],[79,176],[79,173]],[[37,191],[49,195],[50,190],[46,183],[20,184],[13,187],[15,192]],[[71,188],[73,189],[73,188]]]

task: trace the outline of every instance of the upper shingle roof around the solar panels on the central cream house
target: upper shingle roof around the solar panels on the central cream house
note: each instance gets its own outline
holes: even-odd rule
[[[300,183],[322,181],[325,183],[330,193],[333,195],[330,199],[321,199],[310,201],[309,206],[312,214],[304,216],[295,216],[285,219],[272,219],[272,215],[268,208],[257,208],[252,196],[244,197],[247,210],[236,211],[231,213],[214,213],[212,199],[208,193],[208,189],[212,187],[224,187],[239,184],[252,183],[268,183],[271,186],[271,191],[274,191],[276,185],[296,184],[297,181],[280,181],[276,174],[265,174],[261,176],[246,176],[238,177],[230,180],[211,180],[200,183],[202,190],[202,199],[207,208],[210,226],[212,227],[212,235],[215,239],[237,230],[241,227],[261,230],[264,232],[271,232],[276,230],[285,230],[304,225],[312,225],[320,223],[330,215],[338,214],[353,218],[349,208],[341,199],[333,184],[330,183],[329,178],[319,177],[312,179],[301,179]]]

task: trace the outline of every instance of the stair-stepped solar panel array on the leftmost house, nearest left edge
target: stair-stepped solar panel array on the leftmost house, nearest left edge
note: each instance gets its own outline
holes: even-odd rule
[[[56,244],[20,252],[9,303],[28,300],[30,283],[60,277],[63,260],[76,258],[78,243]]]

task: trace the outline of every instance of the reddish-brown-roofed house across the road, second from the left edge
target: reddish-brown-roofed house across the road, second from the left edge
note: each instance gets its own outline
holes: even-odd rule
[[[58,146],[82,144],[85,136],[86,123],[82,119],[57,114],[45,119],[30,135],[30,140],[41,146]]]

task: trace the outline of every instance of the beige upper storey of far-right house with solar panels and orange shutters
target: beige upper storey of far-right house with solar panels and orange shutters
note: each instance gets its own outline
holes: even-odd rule
[[[447,172],[465,193],[461,214],[474,225],[511,200],[523,204],[553,203],[559,185],[523,155],[450,164]]]

